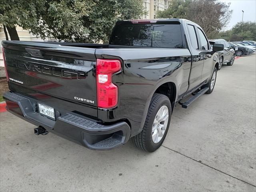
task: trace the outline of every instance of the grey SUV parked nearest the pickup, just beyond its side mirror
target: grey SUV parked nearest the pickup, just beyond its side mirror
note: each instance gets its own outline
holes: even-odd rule
[[[230,44],[228,44],[228,42],[226,42],[226,40],[224,39],[211,39],[209,40],[211,46],[213,46],[213,44],[223,44],[224,45],[224,50],[223,51],[219,51],[219,67],[218,70],[220,70],[220,68],[222,67],[222,64],[227,64],[228,66],[231,66],[234,64],[234,60],[235,60],[235,51],[234,49],[232,49],[230,47]]]

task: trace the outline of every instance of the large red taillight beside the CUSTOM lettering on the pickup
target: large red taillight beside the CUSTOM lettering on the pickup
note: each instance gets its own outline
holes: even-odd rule
[[[100,108],[113,108],[118,102],[118,88],[112,83],[112,75],[121,70],[118,59],[97,59],[97,102]]]

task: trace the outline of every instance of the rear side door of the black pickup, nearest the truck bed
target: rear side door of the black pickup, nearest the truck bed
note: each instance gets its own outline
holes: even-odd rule
[[[191,71],[189,79],[188,92],[192,92],[197,89],[202,82],[202,70],[204,66],[204,58],[199,49],[198,36],[196,34],[196,28],[192,24],[187,24],[189,39],[188,44],[191,52]],[[188,93],[187,92],[187,93]]]

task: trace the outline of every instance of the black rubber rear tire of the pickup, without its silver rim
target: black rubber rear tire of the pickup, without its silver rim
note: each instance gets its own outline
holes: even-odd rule
[[[158,143],[154,143],[152,139],[152,127],[154,119],[156,117],[158,110],[164,105],[167,106],[169,112],[168,124],[162,136],[162,139]],[[146,116],[146,121],[142,129],[142,132],[132,138],[132,141],[134,142],[135,146],[147,152],[154,152],[155,150],[157,150],[162,145],[166,137],[166,134],[170,126],[171,115],[172,106],[170,103],[170,99],[165,95],[155,93],[150,101],[148,114]]]

